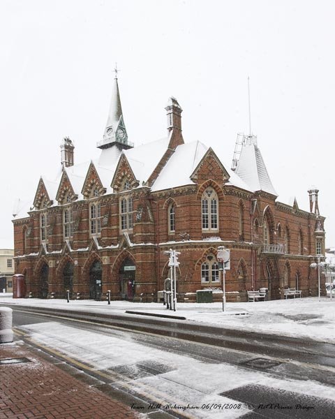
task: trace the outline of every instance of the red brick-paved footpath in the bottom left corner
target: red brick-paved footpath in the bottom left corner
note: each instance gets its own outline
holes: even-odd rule
[[[30,362],[0,363],[0,419],[145,417],[70,376],[23,343],[0,344],[0,361],[8,358]]]

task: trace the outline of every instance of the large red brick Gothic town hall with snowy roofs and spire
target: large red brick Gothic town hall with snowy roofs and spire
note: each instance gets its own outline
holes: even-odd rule
[[[156,300],[169,275],[163,251],[172,248],[180,251],[178,300],[192,301],[197,290],[222,289],[216,256],[224,245],[229,300],[260,287],[271,298],[287,287],[316,295],[309,266],[325,253],[318,190],[308,191],[309,212],[278,202],[255,136],[240,137],[229,170],[211,147],[184,143],[175,98],[165,109],[168,136],[133,147],[115,78],[99,159],[74,164],[64,138],[59,179],[41,177],[29,211],[13,221],[15,272],[27,293],[99,299],[110,290],[114,300]]]

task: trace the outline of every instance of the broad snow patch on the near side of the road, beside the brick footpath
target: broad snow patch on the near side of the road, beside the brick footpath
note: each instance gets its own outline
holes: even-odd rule
[[[239,408],[225,411],[226,419],[239,418],[248,406],[221,395],[244,385],[265,385],[278,391],[290,391],[335,400],[334,389],[315,381],[283,379],[267,372],[251,371],[225,362],[202,362],[187,355],[147,346],[126,337],[81,330],[58,322],[22,325],[30,337],[43,346],[84,362],[96,371],[109,374],[113,385],[131,388],[139,395],[150,395],[159,403],[198,406],[192,418],[222,418],[222,411],[207,411],[207,404],[233,404]],[[165,371],[146,374],[140,365],[161,365]],[[134,373],[129,374],[130,373]],[[128,374],[127,374],[128,373]]]

